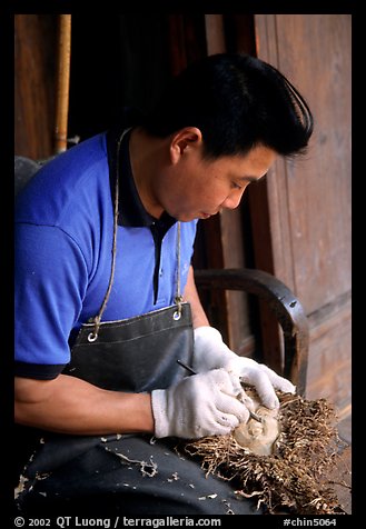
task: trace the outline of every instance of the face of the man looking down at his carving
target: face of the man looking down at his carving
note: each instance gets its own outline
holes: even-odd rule
[[[263,178],[276,158],[275,151],[258,146],[246,156],[212,161],[202,159],[201,146],[188,146],[165,174],[160,202],[184,222],[207,219],[222,208],[235,209],[246,187]]]

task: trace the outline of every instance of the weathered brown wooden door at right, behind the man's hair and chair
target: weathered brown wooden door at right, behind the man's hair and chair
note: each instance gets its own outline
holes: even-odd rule
[[[266,178],[268,249],[254,221],[256,266],[299,298],[310,322],[307,393],[350,407],[350,16],[256,14],[258,56],[307,99],[315,132],[305,158]],[[251,209],[264,206],[253,190]],[[257,193],[257,196],[256,196]],[[258,197],[259,194],[259,197]],[[265,218],[265,216],[264,216]]]

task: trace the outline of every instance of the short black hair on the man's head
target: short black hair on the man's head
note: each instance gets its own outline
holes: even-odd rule
[[[161,138],[197,127],[204,156],[215,159],[258,144],[286,157],[304,153],[314,123],[305,99],[276,68],[251,56],[218,53],[172,79],[144,126]]]

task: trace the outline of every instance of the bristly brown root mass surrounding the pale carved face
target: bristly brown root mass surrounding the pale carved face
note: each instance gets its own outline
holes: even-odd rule
[[[326,399],[278,397],[280,433],[271,455],[250,452],[233,435],[186,442],[185,452],[207,473],[231,480],[237,495],[265,503],[269,513],[344,513],[328,478],[342,445],[334,407]]]

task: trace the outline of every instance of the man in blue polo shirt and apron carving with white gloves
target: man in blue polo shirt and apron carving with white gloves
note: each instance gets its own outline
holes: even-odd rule
[[[276,388],[295,391],[222,342],[190,261],[197,221],[236,208],[311,132],[306,102],[276,69],[211,56],[175,79],[149,116],[127,116],[57,157],[20,193],[16,421],[42,442],[19,509],[261,512],[174,450],[177,438],[248,420],[240,381],[270,409]]]

